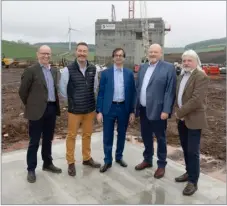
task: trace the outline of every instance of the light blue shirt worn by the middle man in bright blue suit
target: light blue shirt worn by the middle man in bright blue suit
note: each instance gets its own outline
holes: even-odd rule
[[[114,102],[125,101],[125,87],[124,87],[124,75],[123,68],[117,68],[114,65]]]

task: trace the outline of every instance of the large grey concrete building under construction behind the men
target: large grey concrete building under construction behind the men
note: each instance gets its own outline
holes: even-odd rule
[[[149,43],[164,46],[165,23],[162,18],[149,18]],[[111,22],[98,19],[95,23],[95,60],[98,64],[109,64],[112,51],[116,47],[124,48],[126,65],[140,64],[144,57],[142,28],[140,19],[122,19]]]

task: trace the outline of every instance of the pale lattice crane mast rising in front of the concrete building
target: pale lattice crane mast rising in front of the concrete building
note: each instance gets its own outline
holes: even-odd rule
[[[140,19],[142,28],[144,61],[147,60],[147,53],[149,49],[149,34],[148,34],[148,19],[147,19],[147,4],[146,1],[140,1]]]

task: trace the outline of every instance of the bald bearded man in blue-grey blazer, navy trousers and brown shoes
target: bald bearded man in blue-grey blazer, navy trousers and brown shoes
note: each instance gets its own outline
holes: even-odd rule
[[[176,92],[176,71],[173,64],[162,61],[162,48],[153,44],[148,51],[149,63],[140,67],[137,79],[137,114],[140,115],[141,136],[145,146],[144,160],[135,169],[153,166],[153,136],[157,138],[158,169],[154,177],[165,174],[167,119],[172,113]]]

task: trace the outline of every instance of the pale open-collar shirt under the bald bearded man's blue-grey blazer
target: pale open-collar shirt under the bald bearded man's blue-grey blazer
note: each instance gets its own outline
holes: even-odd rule
[[[155,64],[149,63],[149,66],[148,66],[147,71],[143,78],[143,83],[142,83],[141,92],[140,92],[140,104],[143,107],[146,107],[146,105],[147,105],[147,86],[148,86],[148,83],[152,77],[152,74],[153,74],[157,64],[158,64],[158,62],[156,62]]]

